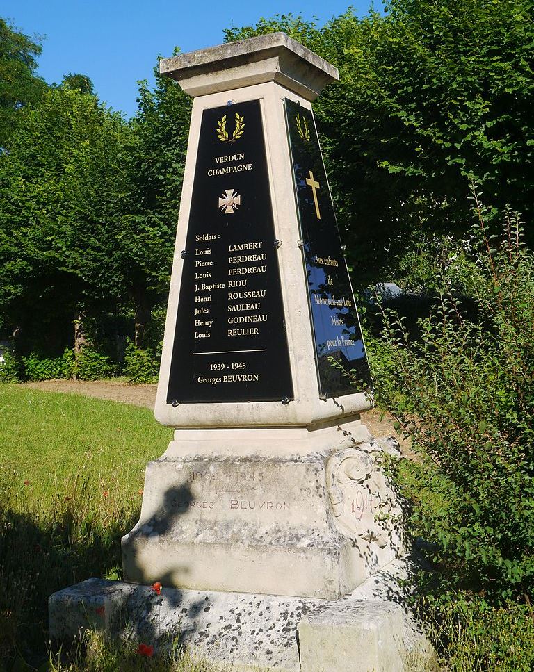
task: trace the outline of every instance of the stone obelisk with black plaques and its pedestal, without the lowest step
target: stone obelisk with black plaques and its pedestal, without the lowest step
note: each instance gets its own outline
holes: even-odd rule
[[[312,101],[284,33],[162,60],[193,96],[156,419],[125,579],[339,598],[398,552]]]

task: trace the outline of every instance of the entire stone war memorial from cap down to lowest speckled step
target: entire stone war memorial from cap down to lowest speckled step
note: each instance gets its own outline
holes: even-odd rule
[[[337,69],[284,33],[160,68],[194,99],[155,409],[174,438],[147,466],[124,581],[54,593],[51,636],[179,641],[220,669],[431,669],[382,468],[398,448],[362,423],[369,368],[312,113]]]

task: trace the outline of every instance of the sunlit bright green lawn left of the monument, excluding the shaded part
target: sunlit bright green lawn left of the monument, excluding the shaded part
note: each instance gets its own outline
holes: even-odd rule
[[[58,492],[76,473],[127,494],[170,436],[148,409],[0,384],[2,472],[29,480],[34,497]]]

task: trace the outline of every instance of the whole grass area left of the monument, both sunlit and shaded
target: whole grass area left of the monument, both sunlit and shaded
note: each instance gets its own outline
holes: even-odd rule
[[[145,465],[171,436],[148,409],[0,384],[0,669],[47,656],[51,593],[120,577]]]

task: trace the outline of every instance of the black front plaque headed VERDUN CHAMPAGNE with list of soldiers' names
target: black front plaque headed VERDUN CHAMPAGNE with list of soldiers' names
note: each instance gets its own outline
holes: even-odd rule
[[[204,110],[167,402],[293,398],[259,100]]]

